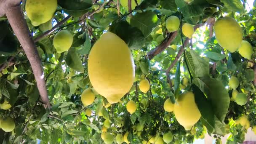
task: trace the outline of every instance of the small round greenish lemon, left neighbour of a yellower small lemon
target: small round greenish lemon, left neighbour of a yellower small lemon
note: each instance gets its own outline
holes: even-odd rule
[[[168,29],[169,32],[175,32],[179,29],[180,21],[177,16],[168,17],[165,23],[166,23],[166,29]]]

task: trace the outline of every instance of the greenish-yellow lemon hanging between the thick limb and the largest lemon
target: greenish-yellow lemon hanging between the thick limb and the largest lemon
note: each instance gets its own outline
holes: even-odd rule
[[[53,46],[57,53],[69,50],[73,43],[73,36],[67,30],[59,31],[53,38]]]

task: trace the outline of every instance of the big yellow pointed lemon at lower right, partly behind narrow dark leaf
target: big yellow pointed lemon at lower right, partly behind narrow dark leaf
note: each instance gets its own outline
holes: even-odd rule
[[[195,103],[195,95],[190,91],[182,93],[177,99],[177,104],[174,104],[174,115],[187,131],[197,123],[201,114]]]

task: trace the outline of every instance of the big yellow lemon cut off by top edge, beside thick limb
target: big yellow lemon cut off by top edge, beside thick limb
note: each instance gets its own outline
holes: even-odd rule
[[[57,8],[57,0],[27,0],[27,16],[34,26],[49,21]]]

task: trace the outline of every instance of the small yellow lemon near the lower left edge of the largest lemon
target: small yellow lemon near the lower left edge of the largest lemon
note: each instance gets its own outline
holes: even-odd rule
[[[81,101],[85,106],[88,106],[93,103],[95,99],[95,95],[93,91],[91,91],[91,88],[86,88],[82,95],[81,95]]]

